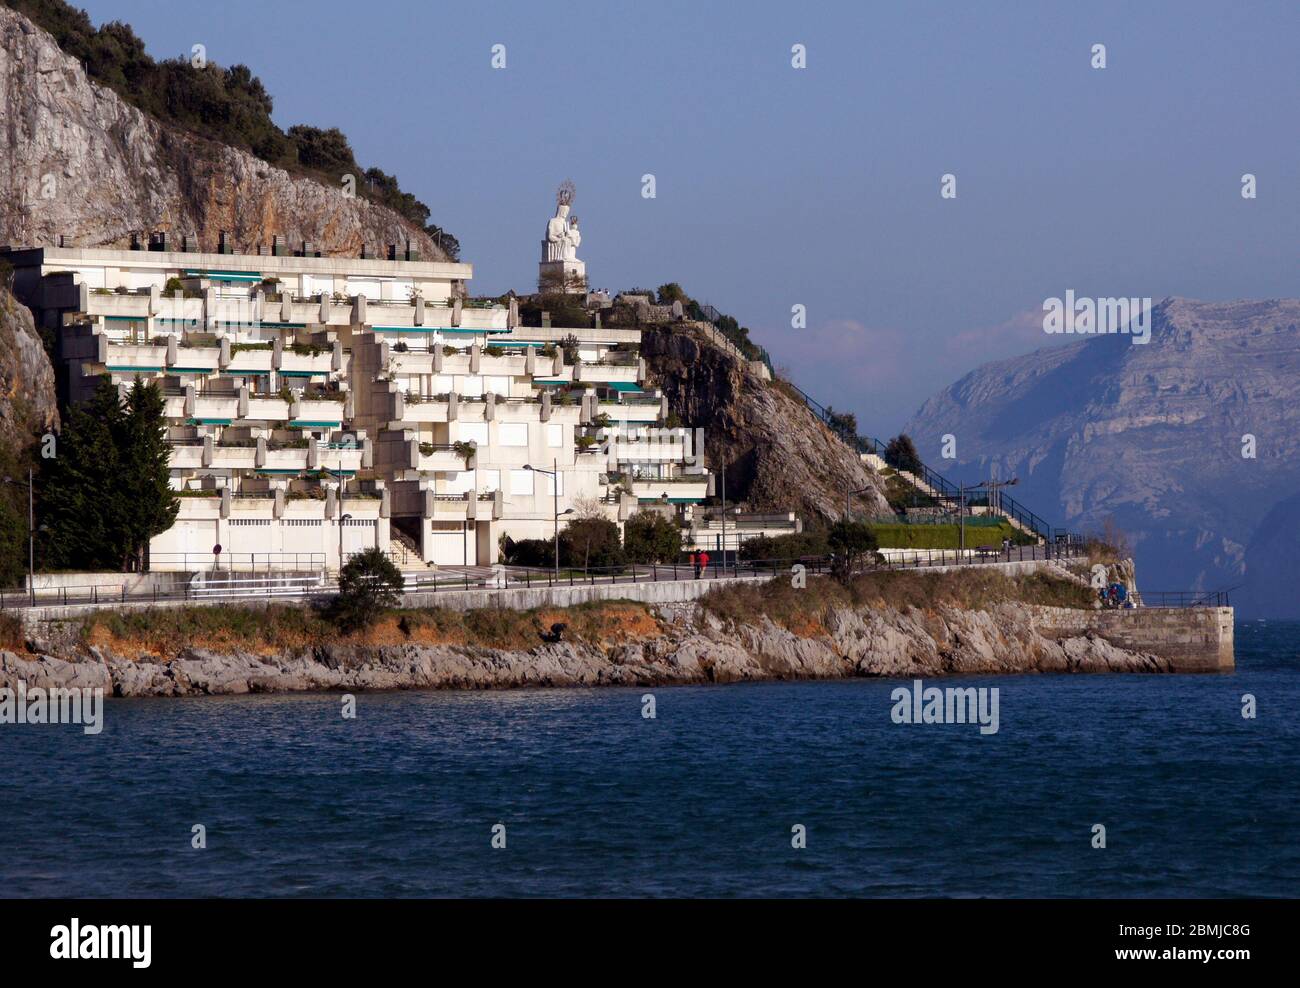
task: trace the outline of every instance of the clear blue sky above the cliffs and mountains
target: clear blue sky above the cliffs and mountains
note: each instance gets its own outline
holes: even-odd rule
[[[593,287],[680,282],[879,437],[1072,339],[1041,325],[1067,289],[1300,294],[1295,0],[79,5],[155,57],[248,65],[282,127],[343,130],[474,294],[533,290],[572,179]]]

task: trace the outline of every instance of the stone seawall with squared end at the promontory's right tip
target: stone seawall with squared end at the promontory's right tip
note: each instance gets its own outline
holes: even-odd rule
[[[1048,637],[1097,634],[1130,651],[1169,659],[1175,672],[1231,672],[1231,607],[1139,607],[1131,611],[1076,611],[1035,607],[1034,625]]]

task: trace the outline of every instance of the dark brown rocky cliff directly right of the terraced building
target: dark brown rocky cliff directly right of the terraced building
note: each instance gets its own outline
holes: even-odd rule
[[[646,329],[641,355],[670,410],[705,429],[710,468],[724,462],[728,502],[827,521],[844,514],[848,491],[866,488],[854,510],[889,514],[880,477],[802,400],[697,328]]]

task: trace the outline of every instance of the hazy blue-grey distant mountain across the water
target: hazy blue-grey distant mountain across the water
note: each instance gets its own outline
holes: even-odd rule
[[[954,478],[1018,477],[1017,499],[1056,525],[1113,519],[1149,590],[1239,585],[1243,615],[1300,618],[1300,299],[1165,299],[1149,343],[1084,337],[985,364],[907,432]]]

